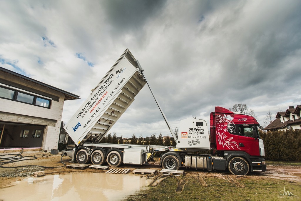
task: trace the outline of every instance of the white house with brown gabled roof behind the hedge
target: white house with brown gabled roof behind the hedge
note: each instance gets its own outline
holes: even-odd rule
[[[264,130],[301,130],[301,105],[289,106],[286,111],[277,112],[276,119]]]

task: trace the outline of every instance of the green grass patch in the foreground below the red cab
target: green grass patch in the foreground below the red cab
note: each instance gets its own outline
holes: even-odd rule
[[[222,175],[227,178],[227,175]],[[150,187],[126,200],[279,200],[281,190],[289,191],[300,199],[301,185],[296,182],[284,181],[257,176],[242,176],[235,180],[244,187],[238,187],[233,182],[219,177],[205,177],[208,186],[200,184],[196,176],[167,176],[156,187]],[[184,185],[183,185],[184,184]],[[184,187],[182,187],[184,186]],[[179,187],[182,187],[179,190]]]

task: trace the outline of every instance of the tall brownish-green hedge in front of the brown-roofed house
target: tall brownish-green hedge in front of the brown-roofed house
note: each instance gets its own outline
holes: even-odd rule
[[[271,161],[301,161],[301,131],[259,132],[265,149],[265,159]]]

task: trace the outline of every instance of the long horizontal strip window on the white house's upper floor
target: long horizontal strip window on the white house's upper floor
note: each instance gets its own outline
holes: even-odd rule
[[[10,99],[13,101],[23,102],[44,108],[50,108],[51,99],[42,98],[37,94],[29,93],[23,92],[23,90],[18,90],[16,88],[8,89],[6,87],[0,86],[0,98]]]

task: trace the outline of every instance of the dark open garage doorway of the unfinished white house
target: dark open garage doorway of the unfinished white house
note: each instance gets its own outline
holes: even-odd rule
[[[0,122],[0,148],[40,148],[44,132],[44,125]]]

